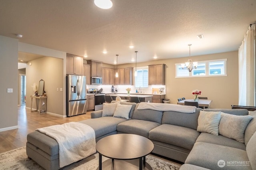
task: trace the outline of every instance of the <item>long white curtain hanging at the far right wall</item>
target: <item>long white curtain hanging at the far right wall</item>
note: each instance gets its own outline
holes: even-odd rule
[[[248,28],[239,48],[239,101],[240,106],[256,106],[255,95],[255,24]]]

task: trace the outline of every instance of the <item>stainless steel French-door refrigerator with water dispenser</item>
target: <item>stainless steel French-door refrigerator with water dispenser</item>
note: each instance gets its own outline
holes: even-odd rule
[[[67,75],[67,116],[86,113],[86,77]]]

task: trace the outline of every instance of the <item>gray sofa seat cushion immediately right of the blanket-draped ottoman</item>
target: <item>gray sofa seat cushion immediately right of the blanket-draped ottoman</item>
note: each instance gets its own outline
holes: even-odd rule
[[[95,119],[86,119],[78,122],[84,123],[92,127],[92,129],[94,129],[95,132],[95,137],[98,138],[101,137],[102,135],[106,135],[108,133],[116,131],[116,126],[118,125],[118,123],[121,123],[123,121],[127,121],[127,119],[120,117],[105,116]]]

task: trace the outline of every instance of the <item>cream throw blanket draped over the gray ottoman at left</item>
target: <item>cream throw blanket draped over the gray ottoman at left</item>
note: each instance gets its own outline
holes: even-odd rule
[[[59,144],[60,168],[96,152],[95,132],[88,125],[70,122],[43,127],[36,131],[52,137]]]

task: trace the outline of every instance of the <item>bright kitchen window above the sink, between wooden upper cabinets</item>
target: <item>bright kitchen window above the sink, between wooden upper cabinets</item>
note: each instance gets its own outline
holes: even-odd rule
[[[148,67],[137,67],[137,76],[135,77],[135,88],[139,87],[148,88]]]

